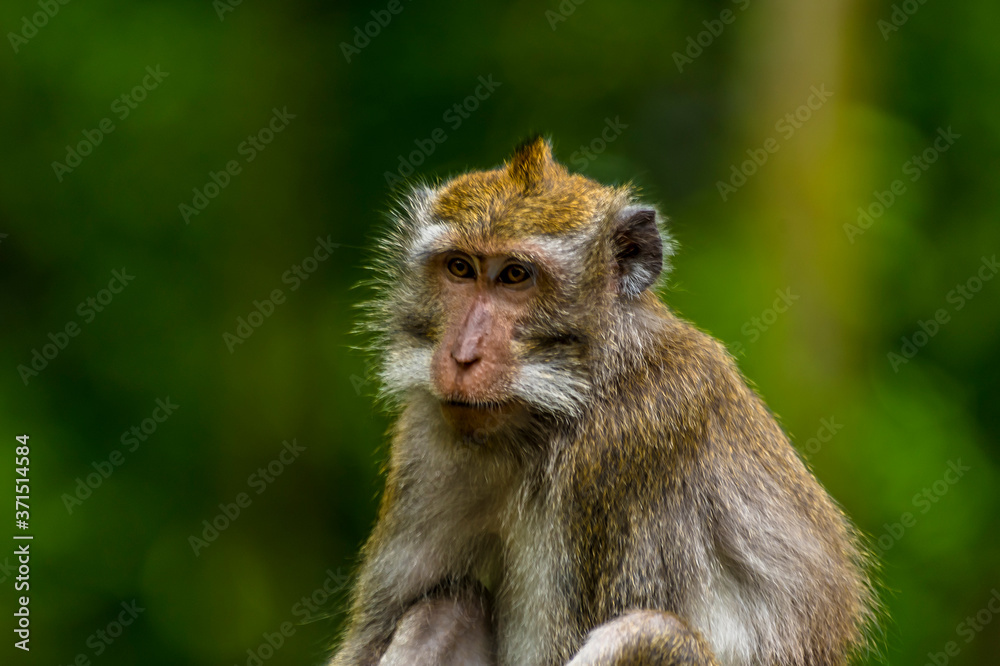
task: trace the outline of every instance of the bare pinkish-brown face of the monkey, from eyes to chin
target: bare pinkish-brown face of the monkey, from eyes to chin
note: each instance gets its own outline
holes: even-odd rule
[[[445,419],[460,432],[491,430],[523,413],[511,394],[515,331],[538,294],[537,266],[510,255],[445,252],[430,260],[443,334],[431,377]]]

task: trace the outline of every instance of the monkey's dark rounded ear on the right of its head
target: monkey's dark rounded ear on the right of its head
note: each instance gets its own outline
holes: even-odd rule
[[[613,242],[618,290],[626,296],[638,296],[663,271],[663,239],[656,211],[639,206],[623,210],[615,221]]]

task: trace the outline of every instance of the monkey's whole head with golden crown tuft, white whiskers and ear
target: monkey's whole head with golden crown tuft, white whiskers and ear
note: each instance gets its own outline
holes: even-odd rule
[[[571,174],[537,138],[491,171],[418,186],[380,248],[385,391],[460,433],[586,409],[602,358],[641,344],[672,245],[629,187]],[[622,327],[633,340],[622,340]],[[641,336],[640,336],[641,337]]]

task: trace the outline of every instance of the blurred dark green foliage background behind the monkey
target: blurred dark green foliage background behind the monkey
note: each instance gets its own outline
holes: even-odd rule
[[[534,131],[671,218],[664,298],[877,541],[869,663],[1000,663],[998,25],[985,0],[5,2],[0,485],[28,433],[35,540],[30,655],[0,550],[0,663],[320,662],[381,487],[351,329],[387,173]]]

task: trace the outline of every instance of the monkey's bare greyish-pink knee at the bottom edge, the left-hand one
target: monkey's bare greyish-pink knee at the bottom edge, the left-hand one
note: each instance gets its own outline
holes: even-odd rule
[[[465,591],[411,606],[379,666],[492,666],[494,652],[487,602]]]

